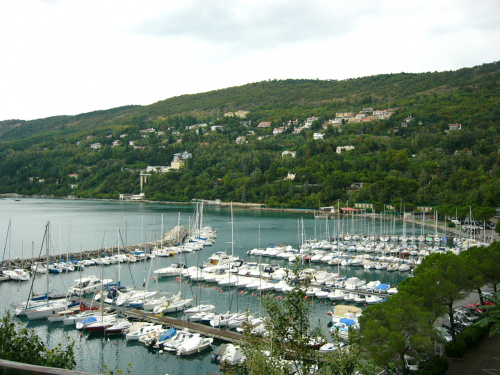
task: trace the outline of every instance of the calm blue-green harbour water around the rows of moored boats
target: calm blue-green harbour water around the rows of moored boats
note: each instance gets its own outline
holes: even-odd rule
[[[38,254],[42,244],[46,223],[50,222],[54,248],[52,253],[78,253],[81,250],[114,246],[118,242],[119,233],[125,244],[137,244],[159,238],[162,232],[171,230],[180,221],[187,227],[194,216],[195,205],[162,205],[147,203],[97,202],[79,200],[49,199],[0,199],[0,239],[4,244],[4,257],[29,258]],[[11,221],[11,232],[7,236],[7,228]],[[201,301],[212,301],[218,312],[248,309],[258,314],[261,310],[257,295],[244,290],[221,290],[213,284],[186,283],[185,281],[152,280],[154,269],[165,267],[174,262],[183,261],[188,266],[200,264],[215,251],[234,251],[243,259],[258,260],[246,255],[246,251],[255,247],[266,247],[269,243],[284,243],[297,248],[301,239],[324,239],[343,228],[346,232],[373,233],[375,226],[380,231],[387,223],[373,221],[353,222],[352,220],[336,223],[334,220],[315,220],[311,213],[280,213],[234,209],[234,225],[231,230],[229,208],[205,207],[204,223],[218,229],[218,237],[214,246],[205,247],[198,253],[191,253],[169,258],[156,258],[153,261],[137,262],[129,265],[108,266],[104,268],[105,277],[120,279],[125,285],[140,287],[147,281],[148,289],[177,292],[182,289],[184,295],[195,296],[201,291]],[[163,226],[162,226],[163,222]],[[389,233],[388,230],[386,230]],[[398,225],[392,233],[401,233]],[[408,228],[407,233],[411,234]],[[417,229],[419,234],[420,229]],[[299,235],[300,233],[300,235]],[[234,245],[231,239],[234,238]],[[269,260],[267,260],[269,261]],[[286,261],[272,260],[273,263],[286,265]],[[315,268],[337,271],[328,265],[314,265]],[[397,284],[402,279],[398,272],[364,269],[340,269],[342,274],[357,276],[367,281],[380,280]],[[100,270],[87,267],[83,274],[99,275]],[[51,275],[50,289],[64,292],[79,277],[78,273]],[[43,292],[45,276],[35,281],[35,288]],[[0,299],[4,309],[11,309],[10,304],[26,300],[30,282],[0,283]],[[320,319],[326,326],[329,321],[326,312],[333,307],[331,301],[311,301],[315,322]],[[179,315],[178,317],[182,317]],[[121,337],[105,337],[100,334],[81,334],[79,331],[64,327],[62,323],[47,324],[46,321],[27,322],[36,329],[48,346],[65,342],[67,338],[76,342],[77,369],[97,373],[108,366],[109,370],[127,370],[131,363],[134,374],[214,374],[218,367],[210,362],[210,351],[181,359],[175,355],[151,352]],[[219,343],[212,345],[215,350]]]

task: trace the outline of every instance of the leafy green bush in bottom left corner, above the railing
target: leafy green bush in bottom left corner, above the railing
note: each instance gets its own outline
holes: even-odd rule
[[[74,342],[47,348],[34,330],[16,326],[7,311],[0,321],[0,358],[31,365],[74,369]]]

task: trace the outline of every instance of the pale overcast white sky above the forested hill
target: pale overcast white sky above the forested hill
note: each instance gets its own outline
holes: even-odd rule
[[[0,120],[498,61],[500,0],[1,0]]]

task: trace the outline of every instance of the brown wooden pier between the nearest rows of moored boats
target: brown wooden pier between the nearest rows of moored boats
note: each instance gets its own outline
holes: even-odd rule
[[[122,314],[129,319],[149,321],[155,324],[163,324],[175,329],[187,328],[191,332],[199,333],[203,336],[213,337],[221,341],[237,342],[242,339],[238,332],[232,332],[221,328],[214,328],[204,324],[193,323],[187,320],[171,318],[165,315],[157,315],[143,310],[129,309],[122,311]]]

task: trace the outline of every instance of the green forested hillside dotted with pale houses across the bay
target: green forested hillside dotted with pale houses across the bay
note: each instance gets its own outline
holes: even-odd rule
[[[187,152],[179,169],[150,173],[146,199],[496,207],[499,80],[500,63],[274,80],[149,106],[3,121],[0,193],[138,194],[141,171]],[[338,151],[345,146],[353,147]]]

